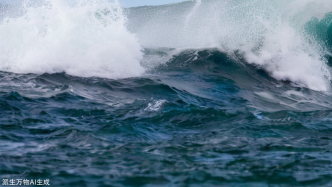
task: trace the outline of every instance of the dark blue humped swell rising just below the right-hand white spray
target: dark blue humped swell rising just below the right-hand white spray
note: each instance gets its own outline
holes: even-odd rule
[[[184,51],[150,72],[158,74],[158,77],[166,76],[171,79],[167,84],[179,84],[178,82],[186,82],[187,79],[190,82],[196,81],[194,90],[199,88],[202,80],[204,85],[215,81],[220,81],[223,85],[229,83],[230,88],[210,85],[212,87],[201,88],[198,92],[210,95],[212,93],[209,91],[214,88],[232,90],[236,86],[238,94],[261,111],[324,110],[330,108],[331,104],[328,93],[310,90],[289,80],[275,79],[264,67],[248,64],[241,54],[229,55],[217,49]],[[177,75],[179,78],[176,78]],[[181,86],[185,87],[184,85]]]

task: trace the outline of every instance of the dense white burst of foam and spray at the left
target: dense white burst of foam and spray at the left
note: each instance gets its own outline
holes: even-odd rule
[[[5,15],[0,24],[2,71],[106,78],[144,71],[141,46],[127,31],[117,2],[26,0]]]

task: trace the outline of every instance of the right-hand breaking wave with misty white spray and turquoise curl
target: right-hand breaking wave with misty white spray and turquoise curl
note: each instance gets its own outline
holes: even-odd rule
[[[128,28],[147,48],[236,51],[278,80],[326,91],[331,7],[326,0],[198,0],[130,9]]]

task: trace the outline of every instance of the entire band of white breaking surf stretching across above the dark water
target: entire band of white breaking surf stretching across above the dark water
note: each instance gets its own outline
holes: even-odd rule
[[[24,0],[7,7],[0,23],[0,70],[116,79],[140,76],[188,49],[214,48],[279,81],[329,91],[331,7],[326,0],[197,0],[128,9],[107,0]]]

